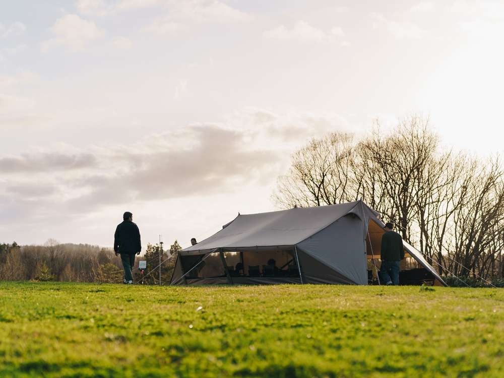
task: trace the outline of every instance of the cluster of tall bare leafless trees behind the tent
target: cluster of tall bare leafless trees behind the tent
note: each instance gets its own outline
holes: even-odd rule
[[[442,275],[504,278],[504,167],[446,146],[426,117],[364,137],[330,133],[292,155],[278,205],[363,200],[391,220]]]

